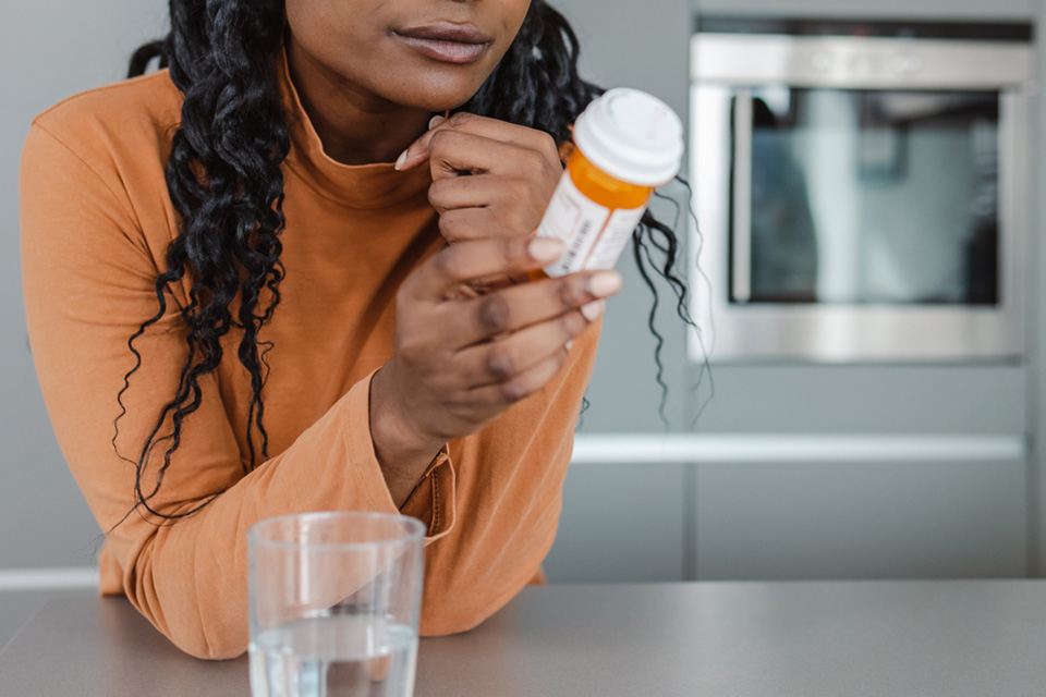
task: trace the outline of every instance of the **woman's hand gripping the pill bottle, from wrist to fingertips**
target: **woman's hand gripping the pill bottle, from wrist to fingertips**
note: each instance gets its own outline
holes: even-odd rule
[[[544,387],[570,342],[621,289],[616,271],[583,271],[463,297],[475,279],[555,261],[547,239],[461,242],[434,255],[397,294],[396,348],[374,376],[370,431],[397,503],[447,441],[469,436]]]

